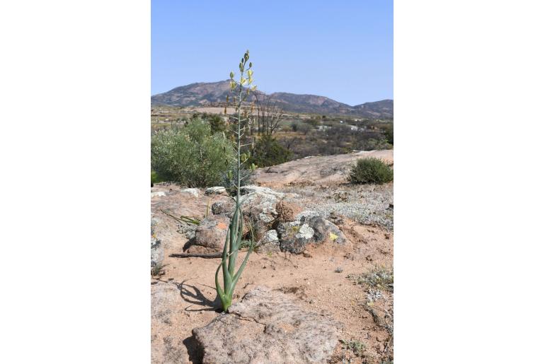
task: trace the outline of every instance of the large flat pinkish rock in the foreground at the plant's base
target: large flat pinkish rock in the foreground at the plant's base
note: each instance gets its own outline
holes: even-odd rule
[[[257,287],[205,327],[193,329],[202,363],[326,363],[340,324],[277,290]]]

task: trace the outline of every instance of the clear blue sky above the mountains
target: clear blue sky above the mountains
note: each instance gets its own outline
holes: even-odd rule
[[[151,1],[151,94],[229,78],[246,49],[266,93],[393,98],[392,0]]]

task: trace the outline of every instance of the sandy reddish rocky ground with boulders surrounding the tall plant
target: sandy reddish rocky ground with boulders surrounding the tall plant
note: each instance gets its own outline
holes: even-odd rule
[[[237,352],[249,353],[252,363],[392,360],[392,184],[347,183],[350,164],[367,155],[392,163],[391,151],[377,151],[305,158],[275,166],[277,172],[258,170],[256,184],[271,189],[248,187],[243,195],[246,225],[260,230],[260,247],[251,254],[236,286],[234,303],[249,306],[256,292],[269,295],[265,301],[279,303],[258,314],[241,309],[246,316],[239,318],[217,312],[214,272],[219,259],[171,256],[217,252],[232,212],[230,197],[173,184],[152,187],[152,258],[163,264],[151,278],[152,362],[217,363],[218,357],[210,353],[217,351],[214,345],[223,344],[212,332],[218,331],[217,325],[221,331],[223,321],[247,326],[248,319],[257,324],[247,331],[238,328],[248,335]],[[177,221],[180,216],[196,218],[200,225]],[[278,317],[275,307],[291,307],[290,312],[298,307],[301,313]],[[322,326],[301,318],[312,315],[323,322],[309,322]],[[263,317],[275,317],[277,322]],[[282,341],[315,331],[322,333],[311,335],[316,341]],[[233,332],[234,337],[241,336],[236,329]],[[256,351],[265,342],[275,350]],[[277,348],[284,348],[285,356],[271,356]],[[297,352],[299,361],[294,359]],[[226,362],[244,362],[229,358]]]

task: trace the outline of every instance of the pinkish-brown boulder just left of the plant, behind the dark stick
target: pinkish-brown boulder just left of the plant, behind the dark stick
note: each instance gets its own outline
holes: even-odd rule
[[[228,228],[229,218],[226,216],[203,218],[195,229],[195,237],[191,245],[205,247],[207,251],[220,252],[225,244]]]

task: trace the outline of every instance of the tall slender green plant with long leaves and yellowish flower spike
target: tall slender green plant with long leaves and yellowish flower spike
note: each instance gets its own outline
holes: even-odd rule
[[[234,72],[231,72],[230,78],[231,78],[231,102],[233,103],[235,107],[235,113],[234,115],[229,115],[229,124],[232,126],[232,130],[235,136],[235,148],[236,148],[236,168],[233,171],[229,172],[229,180],[234,181],[234,188],[236,189],[236,197],[235,197],[235,211],[233,214],[233,217],[231,218],[231,222],[229,223],[229,228],[227,230],[227,237],[225,239],[225,245],[223,249],[223,255],[222,255],[222,262],[219,264],[216,270],[216,290],[217,294],[219,295],[220,300],[222,300],[222,308],[224,312],[227,312],[229,310],[229,307],[231,306],[231,301],[233,300],[233,292],[234,288],[236,286],[236,282],[239,281],[239,278],[241,277],[242,271],[244,270],[244,267],[246,266],[246,263],[248,262],[248,258],[250,257],[251,252],[253,251],[254,247],[254,240],[253,240],[253,232],[251,231],[251,242],[250,246],[248,247],[248,252],[246,252],[246,257],[244,257],[244,260],[239,267],[239,269],[235,273],[236,268],[236,256],[239,253],[239,248],[241,247],[242,242],[242,235],[243,235],[243,225],[244,225],[244,218],[242,216],[241,211],[241,201],[240,201],[240,189],[241,189],[241,168],[243,168],[243,164],[248,161],[250,158],[250,155],[248,153],[241,154],[241,139],[244,135],[244,132],[246,129],[248,129],[250,126],[249,118],[248,118],[248,106],[244,107],[243,103],[246,101],[246,98],[248,98],[248,94],[251,90],[256,90],[257,86],[252,86],[253,83],[253,71],[252,68],[252,62],[248,63],[248,59],[250,58],[250,54],[248,51],[244,54],[244,57],[241,59],[241,63],[239,64],[239,71],[241,73],[240,80],[235,81]],[[248,67],[246,67],[246,64],[248,63]],[[226,100],[227,104],[229,105],[229,96],[227,96]],[[249,115],[251,115],[253,111],[253,107],[250,108]],[[225,107],[224,114],[227,114],[227,107]],[[256,168],[255,165],[250,166],[251,170],[254,170]],[[219,283],[219,270],[222,269],[223,274],[223,288]]]

